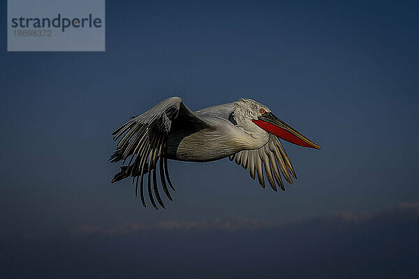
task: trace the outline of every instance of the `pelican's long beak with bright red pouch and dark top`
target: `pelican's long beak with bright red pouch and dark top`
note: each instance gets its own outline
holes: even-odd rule
[[[282,140],[320,150],[320,146],[311,142],[311,140],[307,139],[307,137],[298,133],[297,130],[288,126],[287,123],[279,119],[277,116],[274,116],[272,112],[265,112],[265,114],[261,115],[258,120],[252,119],[252,121],[263,130],[280,137]]]

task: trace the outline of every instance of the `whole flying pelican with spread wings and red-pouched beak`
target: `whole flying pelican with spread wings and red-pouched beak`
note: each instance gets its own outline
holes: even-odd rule
[[[163,191],[170,201],[173,200],[166,183],[167,180],[172,190],[175,190],[169,178],[168,159],[210,162],[229,157],[244,169],[249,168],[252,179],[255,179],[256,172],[263,188],[264,167],[267,181],[277,191],[275,181],[279,188],[285,190],[279,169],[288,183],[293,184],[291,175],[297,179],[279,138],[300,146],[320,149],[320,146],[274,116],[265,105],[251,99],[240,99],[192,112],[182,98],[168,98],[147,112],[131,117],[112,135],[114,141],[120,137],[121,140],[109,160],[123,160],[123,166],[111,182],[131,176],[133,183],[136,179],[137,196],[140,179],[141,202],[146,206],[143,178],[147,174],[149,199],[157,210],[152,183],[157,202],[166,209],[157,187],[157,164]],[[128,165],[125,165],[128,159]]]

